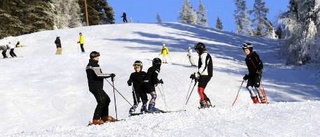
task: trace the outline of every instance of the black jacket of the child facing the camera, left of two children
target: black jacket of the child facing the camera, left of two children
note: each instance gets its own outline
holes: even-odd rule
[[[131,73],[130,78],[128,80],[128,84],[133,83],[133,88],[135,92],[141,93],[143,91],[143,80],[146,77],[146,75],[147,73],[144,71]]]

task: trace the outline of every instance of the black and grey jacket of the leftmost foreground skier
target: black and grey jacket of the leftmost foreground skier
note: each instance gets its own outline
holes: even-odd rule
[[[89,60],[86,72],[90,91],[103,89],[104,78],[111,77],[110,74],[102,73],[98,61],[92,59]]]

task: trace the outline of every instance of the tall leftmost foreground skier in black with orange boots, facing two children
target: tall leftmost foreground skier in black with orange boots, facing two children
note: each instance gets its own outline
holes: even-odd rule
[[[113,79],[116,75],[114,73],[106,74],[102,73],[101,68],[98,64],[100,53],[92,51],[90,53],[89,63],[86,68],[88,85],[90,92],[94,95],[97,101],[97,107],[94,111],[92,124],[101,125],[104,122],[116,121],[115,118],[109,116],[109,103],[110,98],[103,90],[104,78]]]

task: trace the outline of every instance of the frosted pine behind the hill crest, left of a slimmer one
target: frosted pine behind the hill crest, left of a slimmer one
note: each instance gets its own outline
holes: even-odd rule
[[[197,24],[197,13],[192,8],[189,0],[184,0],[179,15],[179,22],[186,24]]]

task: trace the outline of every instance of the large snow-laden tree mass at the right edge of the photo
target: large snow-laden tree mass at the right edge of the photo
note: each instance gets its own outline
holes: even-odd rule
[[[289,4],[290,10],[280,19],[288,63],[320,63],[320,0],[291,0]]]

